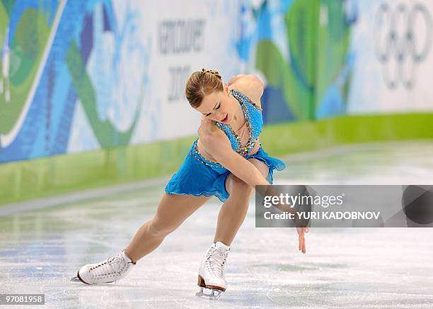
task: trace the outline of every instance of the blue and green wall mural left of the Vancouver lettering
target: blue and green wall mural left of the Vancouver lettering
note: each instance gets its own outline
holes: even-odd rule
[[[119,15],[105,0],[0,2],[0,162],[67,152],[77,103],[89,143],[128,144],[149,52],[135,38],[137,11]]]

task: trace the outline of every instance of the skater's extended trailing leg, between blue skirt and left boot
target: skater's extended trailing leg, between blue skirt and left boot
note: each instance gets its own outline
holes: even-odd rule
[[[137,262],[154,251],[163,239],[202,206],[209,197],[164,193],[156,215],[137,230],[125,254]]]

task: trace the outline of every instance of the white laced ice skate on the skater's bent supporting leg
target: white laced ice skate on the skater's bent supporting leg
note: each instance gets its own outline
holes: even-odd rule
[[[222,242],[216,242],[207,249],[199,269],[197,285],[200,286],[200,291],[196,294],[197,296],[218,299],[221,293],[226,291],[224,268],[229,251],[230,247]],[[203,293],[203,291],[209,291],[209,293]]]

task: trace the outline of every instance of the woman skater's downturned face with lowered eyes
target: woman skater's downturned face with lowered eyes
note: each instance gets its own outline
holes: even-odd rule
[[[223,84],[223,86],[223,91],[214,91],[204,96],[202,104],[196,110],[202,113],[202,118],[230,124],[237,106],[233,103],[234,98],[227,85]]]

